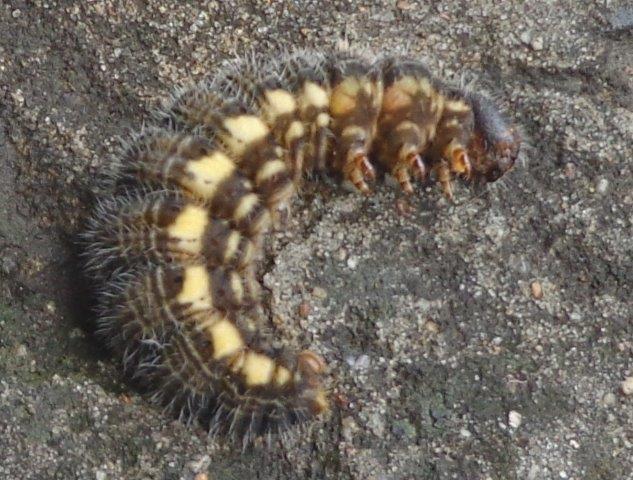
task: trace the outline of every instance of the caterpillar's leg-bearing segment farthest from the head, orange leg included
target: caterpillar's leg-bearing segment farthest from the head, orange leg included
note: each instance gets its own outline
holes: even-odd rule
[[[376,136],[383,98],[379,70],[362,60],[336,59],[330,95],[331,128],[336,139],[334,169],[361,192],[375,177],[369,152]]]

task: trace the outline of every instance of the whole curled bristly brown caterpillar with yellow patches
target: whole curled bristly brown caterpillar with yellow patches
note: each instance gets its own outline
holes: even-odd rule
[[[362,193],[494,182],[518,129],[488,96],[419,61],[296,50],[226,61],[123,146],[82,233],[98,332],[150,398],[249,444],[321,416],[326,364],[271,347],[257,269],[266,232],[313,173]]]

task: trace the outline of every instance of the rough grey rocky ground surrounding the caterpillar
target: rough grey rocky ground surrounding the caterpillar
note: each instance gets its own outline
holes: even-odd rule
[[[0,477],[633,478],[632,18],[614,1],[1,1]],[[309,189],[265,282],[279,338],[324,355],[338,402],[241,455],[122,381],[73,238],[116,137],[175,83],[345,36],[476,72],[531,149],[453,204]]]

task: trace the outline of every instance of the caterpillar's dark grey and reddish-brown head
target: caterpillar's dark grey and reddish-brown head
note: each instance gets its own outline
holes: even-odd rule
[[[514,166],[521,137],[490,98],[470,94],[468,100],[475,117],[475,128],[468,145],[472,176],[480,181],[494,182]]]

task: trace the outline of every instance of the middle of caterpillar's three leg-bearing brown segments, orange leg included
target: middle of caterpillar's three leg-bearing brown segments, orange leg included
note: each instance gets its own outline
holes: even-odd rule
[[[427,174],[422,156],[435,138],[444,97],[420,63],[390,59],[382,68],[385,94],[376,153],[402,189],[412,193],[412,174]]]

